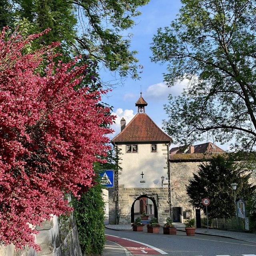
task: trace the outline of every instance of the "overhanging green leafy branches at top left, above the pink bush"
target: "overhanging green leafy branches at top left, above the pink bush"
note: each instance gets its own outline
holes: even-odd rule
[[[62,42],[66,55],[88,54],[122,77],[138,78],[136,51],[123,32],[135,25],[138,7],[149,0],[3,0],[0,26],[10,25],[14,16],[26,18],[41,32],[52,28],[42,44]]]

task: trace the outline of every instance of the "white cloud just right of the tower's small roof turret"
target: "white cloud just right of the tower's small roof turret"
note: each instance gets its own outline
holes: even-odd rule
[[[154,98],[156,100],[165,100],[167,99],[168,94],[172,94],[172,96],[180,95],[187,85],[188,79],[184,79],[172,87],[168,87],[165,82],[152,84],[146,90],[145,96],[147,98]]]

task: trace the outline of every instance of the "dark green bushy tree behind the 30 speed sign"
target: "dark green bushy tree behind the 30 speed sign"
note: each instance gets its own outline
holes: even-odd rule
[[[229,218],[235,216],[234,194],[230,186],[237,183],[236,198],[248,200],[255,193],[256,186],[249,184],[250,172],[244,163],[234,162],[232,157],[216,156],[199,166],[198,174],[189,180],[187,193],[190,202],[204,210],[203,198],[210,199],[208,216],[210,218]]]

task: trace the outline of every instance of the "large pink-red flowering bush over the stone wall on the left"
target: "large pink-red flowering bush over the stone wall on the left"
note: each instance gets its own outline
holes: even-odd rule
[[[90,66],[56,64],[58,43],[26,51],[42,34],[0,35],[0,241],[36,250],[33,227],[72,210],[65,195],[94,184],[113,119]]]

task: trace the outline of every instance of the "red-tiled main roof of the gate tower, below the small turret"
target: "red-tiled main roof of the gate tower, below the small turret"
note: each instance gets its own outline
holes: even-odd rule
[[[112,142],[162,141],[170,142],[172,138],[163,132],[145,113],[138,113]]]

